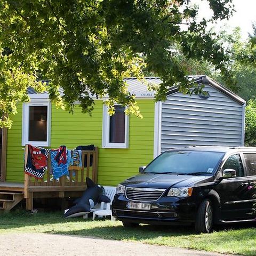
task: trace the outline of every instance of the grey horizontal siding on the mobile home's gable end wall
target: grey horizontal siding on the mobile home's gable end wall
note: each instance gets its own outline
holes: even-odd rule
[[[162,104],[161,151],[183,146],[241,146],[243,106],[210,85],[209,99],[174,93]]]

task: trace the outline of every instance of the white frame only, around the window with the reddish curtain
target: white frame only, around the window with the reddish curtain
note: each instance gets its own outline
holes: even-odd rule
[[[115,105],[118,106],[118,105]],[[125,115],[125,134],[124,143],[109,142],[110,116],[108,107],[103,105],[103,121],[102,121],[102,148],[129,148],[129,116]]]

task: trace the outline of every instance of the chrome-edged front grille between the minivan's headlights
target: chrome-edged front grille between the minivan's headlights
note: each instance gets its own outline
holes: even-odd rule
[[[152,202],[157,201],[165,189],[160,188],[129,188],[125,189],[125,196],[131,201]]]

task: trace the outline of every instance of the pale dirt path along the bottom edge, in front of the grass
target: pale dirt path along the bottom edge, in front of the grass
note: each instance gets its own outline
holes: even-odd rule
[[[2,234],[0,255],[3,256],[224,256],[168,246],[147,245],[96,238],[50,234]],[[232,255],[234,256],[234,255]]]

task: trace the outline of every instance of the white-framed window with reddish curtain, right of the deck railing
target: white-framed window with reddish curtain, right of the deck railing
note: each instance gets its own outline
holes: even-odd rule
[[[125,115],[125,107],[115,105],[115,114],[109,116],[108,107],[103,106],[102,129],[103,148],[128,148],[129,116]]]

